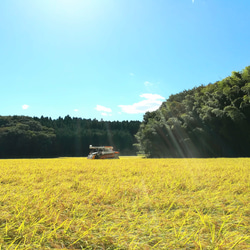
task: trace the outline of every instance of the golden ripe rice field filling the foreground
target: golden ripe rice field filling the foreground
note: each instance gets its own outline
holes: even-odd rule
[[[0,160],[0,249],[250,249],[250,159]]]

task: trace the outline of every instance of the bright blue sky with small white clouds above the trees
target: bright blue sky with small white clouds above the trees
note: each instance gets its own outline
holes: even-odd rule
[[[0,115],[142,120],[250,65],[249,0],[1,0]]]

